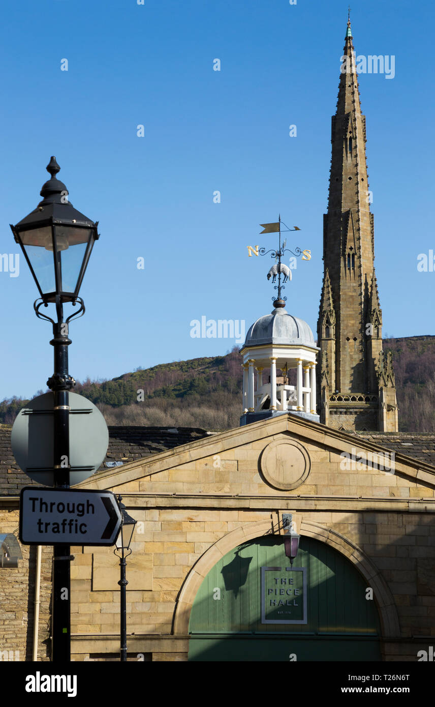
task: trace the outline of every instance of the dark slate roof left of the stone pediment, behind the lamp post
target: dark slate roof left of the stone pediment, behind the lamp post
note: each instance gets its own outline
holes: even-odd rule
[[[11,449],[11,425],[0,425],[0,497],[18,496],[23,486],[37,486],[21,471]],[[196,427],[112,427],[109,426],[109,448],[98,471],[127,464],[150,454],[194,442],[210,435]]]

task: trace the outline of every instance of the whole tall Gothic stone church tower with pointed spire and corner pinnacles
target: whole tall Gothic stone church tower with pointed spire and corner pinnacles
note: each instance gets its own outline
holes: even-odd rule
[[[323,216],[323,286],[318,317],[318,394],[323,424],[398,430],[391,354],[382,351],[374,271],[374,218],[350,21],[332,117],[328,214]]]

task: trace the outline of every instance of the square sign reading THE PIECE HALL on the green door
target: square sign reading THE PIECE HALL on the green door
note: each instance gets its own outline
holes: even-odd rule
[[[306,624],[306,568],[261,568],[261,623]]]

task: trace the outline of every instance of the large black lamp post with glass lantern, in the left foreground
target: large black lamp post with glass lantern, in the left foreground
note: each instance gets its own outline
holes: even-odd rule
[[[68,374],[68,322],[85,313],[83,300],[78,296],[83,275],[97,233],[98,222],[90,221],[76,211],[68,201],[66,186],[56,179],[60,167],[52,157],[47,165],[51,178],[41,189],[40,204],[22,221],[11,225],[30,271],[35,279],[40,298],[33,305],[37,317],[53,325],[54,373],[47,386],[54,397],[54,457],[55,486],[68,489],[70,484],[69,406],[68,390],[76,381]],[[80,307],[64,322],[65,302]],[[56,305],[56,321],[40,312],[42,305]],[[69,545],[54,545],[53,554],[53,609],[52,660],[71,660],[71,607]]]

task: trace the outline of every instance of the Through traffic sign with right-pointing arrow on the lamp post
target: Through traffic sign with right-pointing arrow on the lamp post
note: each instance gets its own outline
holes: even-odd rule
[[[114,545],[121,511],[112,491],[41,489],[20,493],[20,541],[25,545]]]

